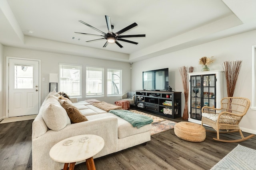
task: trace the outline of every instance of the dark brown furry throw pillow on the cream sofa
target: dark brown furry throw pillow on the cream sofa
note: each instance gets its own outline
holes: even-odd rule
[[[75,106],[69,104],[67,101],[62,102],[62,107],[68,113],[71,123],[88,121],[88,119],[82,115],[82,113]]]

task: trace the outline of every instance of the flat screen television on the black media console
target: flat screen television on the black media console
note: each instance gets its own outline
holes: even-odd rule
[[[169,70],[162,68],[142,72],[144,90],[169,90]]]

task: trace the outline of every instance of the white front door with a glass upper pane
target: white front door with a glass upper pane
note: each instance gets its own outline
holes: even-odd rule
[[[39,61],[9,59],[9,117],[39,111]]]

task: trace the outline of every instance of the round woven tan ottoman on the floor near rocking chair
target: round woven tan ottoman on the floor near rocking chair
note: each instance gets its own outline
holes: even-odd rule
[[[204,127],[186,121],[176,123],[174,126],[174,133],[180,139],[190,142],[202,142],[206,137]]]

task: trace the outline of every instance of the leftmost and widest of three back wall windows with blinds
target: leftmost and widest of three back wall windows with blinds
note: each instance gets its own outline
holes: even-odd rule
[[[60,67],[60,91],[68,96],[82,96],[81,73],[82,66],[59,64]]]

